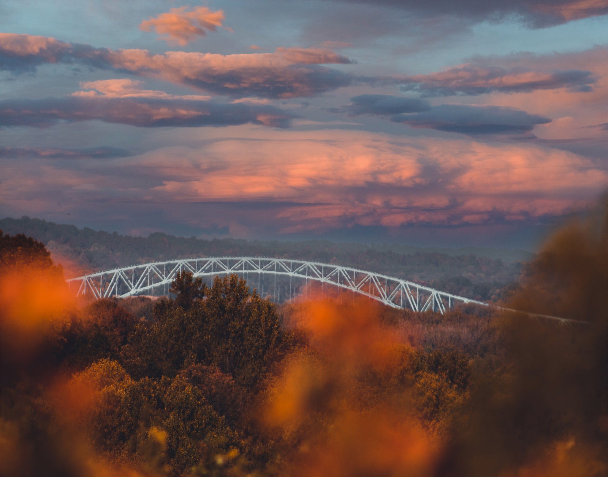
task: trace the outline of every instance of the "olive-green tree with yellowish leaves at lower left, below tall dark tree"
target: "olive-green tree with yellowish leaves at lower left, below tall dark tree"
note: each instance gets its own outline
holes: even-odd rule
[[[178,476],[219,453],[240,452],[237,434],[183,376],[135,380],[116,361],[102,359],[69,385],[94,391],[80,425],[112,455]]]

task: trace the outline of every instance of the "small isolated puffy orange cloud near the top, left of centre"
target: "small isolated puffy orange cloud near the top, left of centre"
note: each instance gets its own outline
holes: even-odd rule
[[[217,27],[222,26],[223,10],[212,12],[207,7],[197,7],[187,12],[186,8],[171,8],[168,13],[142,21],[139,28],[144,32],[155,30],[159,35],[165,35],[159,39],[185,46],[197,37],[206,36],[207,32],[215,32]]]

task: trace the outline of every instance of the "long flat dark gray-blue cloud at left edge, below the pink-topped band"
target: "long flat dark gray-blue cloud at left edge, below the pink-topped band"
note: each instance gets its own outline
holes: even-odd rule
[[[103,96],[0,101],[0,127],[45,127],[60,121],[90,120],[140,127],[233,126],[245,123],[288,127],[293,117],[291,113],[266,104],[215,101]]]

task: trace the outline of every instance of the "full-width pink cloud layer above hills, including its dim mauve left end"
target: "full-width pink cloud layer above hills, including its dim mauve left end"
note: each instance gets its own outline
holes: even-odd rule
[[[121,203],[127,214],[164,204],[187,209],[200,227],[283,234],[529,222],[580,208],[608,183],[606,167],[533,144],[339,130],[256,133],[72,171],[35,159],[8,162],[3,174],[1,201],[32,215],[50,197],[78,209]]]

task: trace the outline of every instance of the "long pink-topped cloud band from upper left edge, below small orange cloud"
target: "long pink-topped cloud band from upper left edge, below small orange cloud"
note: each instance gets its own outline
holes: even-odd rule
[[[0,69],[33,71],[44,63],[81,63],[232,96],[314,96],[353,83],[347,73],[320,66],[352,63],[324,48],[277,48],[274,53],[238,55],[153,55],[148,50],[96,49],[44,36],[0,33]]]

